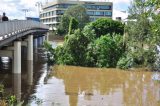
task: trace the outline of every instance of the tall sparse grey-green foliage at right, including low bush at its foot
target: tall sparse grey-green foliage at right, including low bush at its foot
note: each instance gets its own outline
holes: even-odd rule
[[[118,67],[155,67],[160,23],[153,1],[133,0],[126,26],[126,55],[119,60]]]

